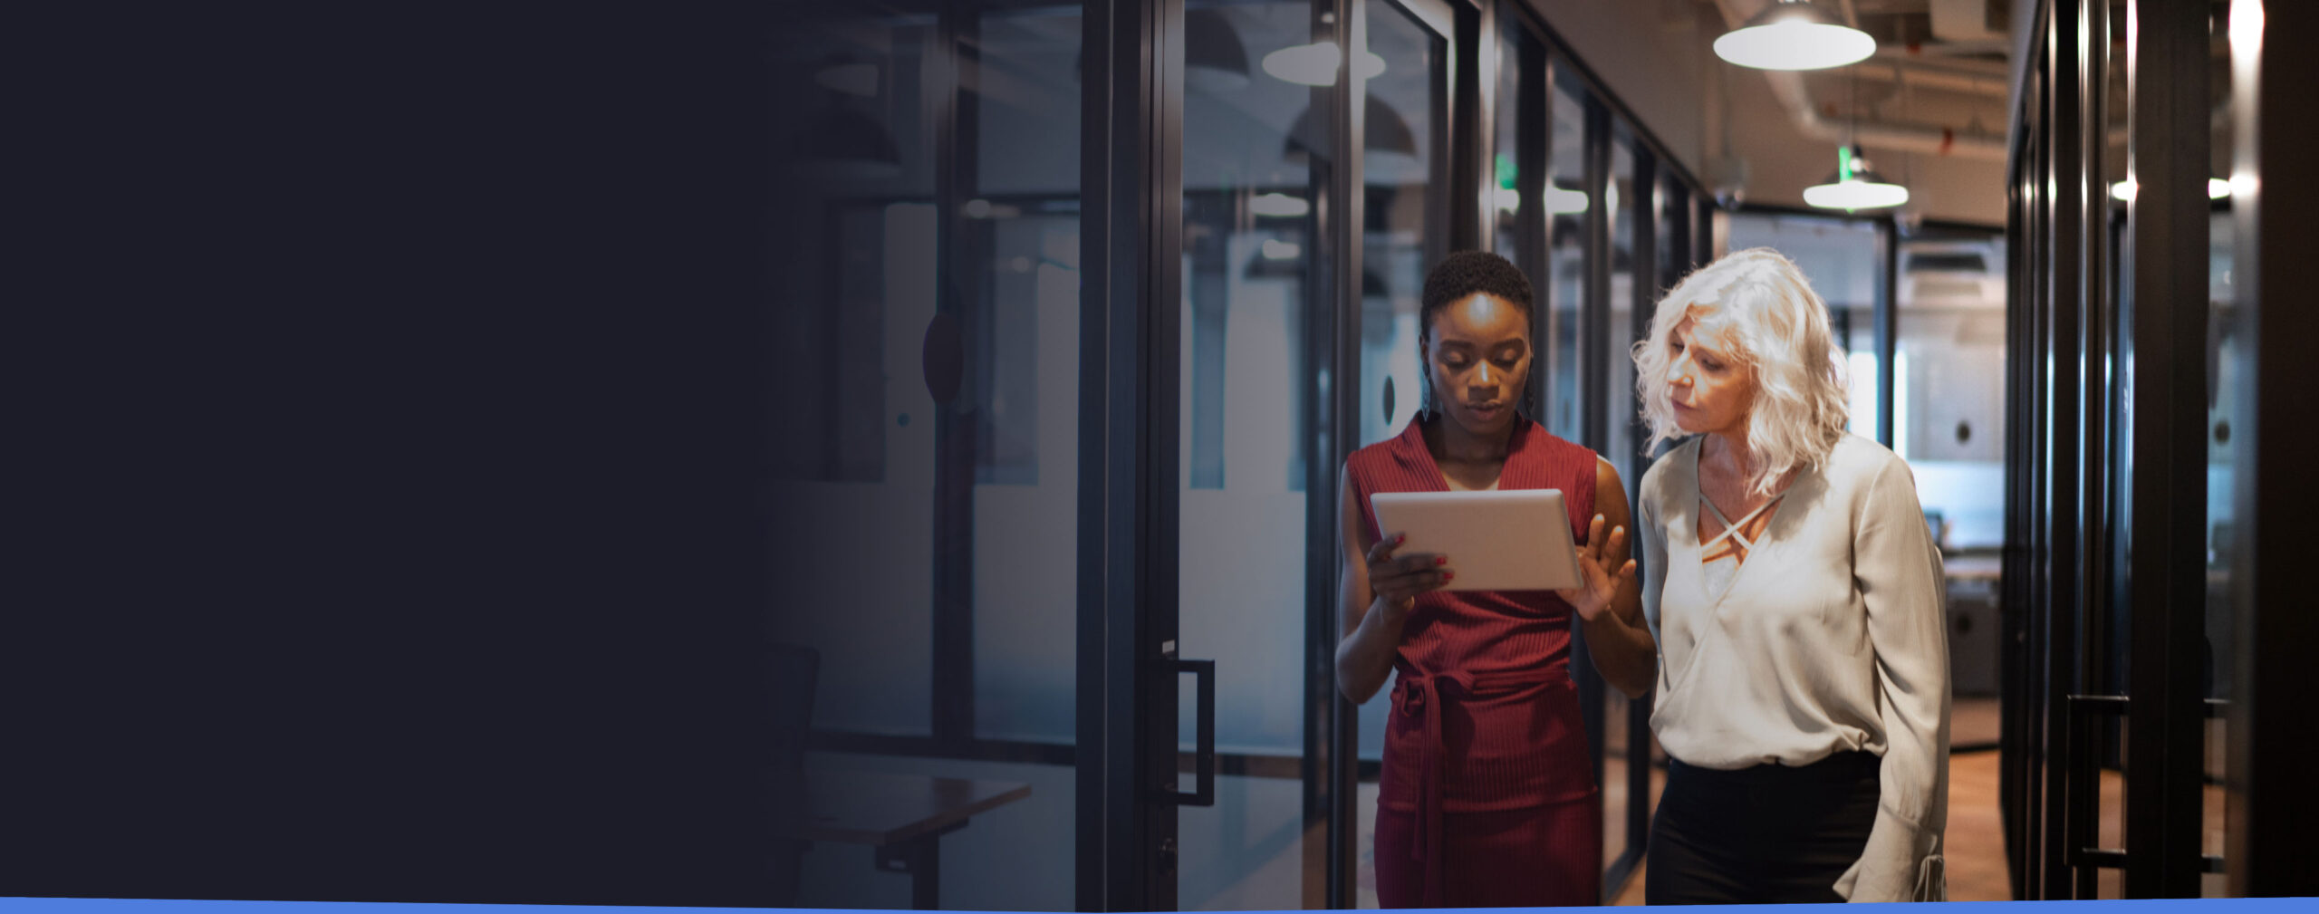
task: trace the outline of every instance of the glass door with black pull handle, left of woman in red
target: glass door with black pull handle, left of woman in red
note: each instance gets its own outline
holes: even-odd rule
[[[1336,26],[1310,0],[1183,9],[1173,909],[1324,907],[1310,763],[1333,631],[1324,436]],[[1157,418],[1155,422],[1164,422]],[[1329,638],[1333,645],[1333,638]],[[1322,673],[1322,675],[1315,675]]]

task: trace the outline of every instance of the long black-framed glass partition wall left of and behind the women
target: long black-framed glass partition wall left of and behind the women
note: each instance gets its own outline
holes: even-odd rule
[[[833,571],[768,612],[812,657],[775,763],[951,817],[784,835],[786,900],[1373,905],[1387,698],[1333,682],[1336,492],[1422,401],[1424,274],[1533,278],[1533,415],[1633,487],[1626,346],[1709,197],[1517,2],[828,5],[775,60],[770,346],[814,392],[775,547]],[[1649,701],[1575,677],[1609,898]]]

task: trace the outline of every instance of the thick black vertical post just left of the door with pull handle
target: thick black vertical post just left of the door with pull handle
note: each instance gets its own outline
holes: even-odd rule
[[[1183,2],[1083,19],[1076,907],[1173,907]],[[1166,721],[1162,731],[1153,719]],[[1162,777],[1166,777],[1162,782]]]

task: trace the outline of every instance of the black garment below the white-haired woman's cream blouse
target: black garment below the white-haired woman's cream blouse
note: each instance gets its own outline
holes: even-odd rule
[[[1837,877],[1860,861],[1876,828],[1881,763],[1869,752],[1739,770],[1667,759],[1644,902],[1841,902]]]

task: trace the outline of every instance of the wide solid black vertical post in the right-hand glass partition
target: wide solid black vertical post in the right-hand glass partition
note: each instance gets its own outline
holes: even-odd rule
[[[2133,269],[2120,292],[2131,387],[2129,898],[2196,898],[2205,694],[2208,5],[2127,5]],[[2099,35],[2108,39],[2108,35]],[[2103,86],[2087,86],[2099,93]],[[2099,151],[2094,151],[2099,155]],[[2099,160],[2099,158],[2096,158]],[[2096,190],[2087,190],[2096,193]]]

